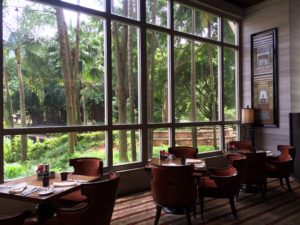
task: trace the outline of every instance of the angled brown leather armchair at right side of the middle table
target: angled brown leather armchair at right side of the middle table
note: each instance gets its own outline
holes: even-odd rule
[[[228,198],[234,217],[237,217],[234,197],[238,195],[240,184],[234,167],[213,169],[212,175],[202,177],[199,184],[201,217],[203,218],[204,197]]]

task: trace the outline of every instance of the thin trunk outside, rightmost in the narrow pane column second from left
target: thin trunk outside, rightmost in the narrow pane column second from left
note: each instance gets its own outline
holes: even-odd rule
[[[132,14],[132,3],[129,1],[128,3],[128,14],[129,17]],[[135,92],[135,85],[134,85],[134,75],[132,69],[132,27],[128,27],[128,66],[127,66],[127,73],[128,73],[128,91],[129,91],[129,110],[130,110],[130,123],[134,124],[134,92]],[[131,143],[131,159],[132,162],[136,161],[136,141],[135,141],[135,131],[130,131],[130,143]]]

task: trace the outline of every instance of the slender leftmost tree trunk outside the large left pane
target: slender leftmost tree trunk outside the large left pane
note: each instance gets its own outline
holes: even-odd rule
[[[20,114],[21,114],[21,127],[26,126],[26,107],[25,96],[23,87],[23,74],[21,67],[21,53],[20,48],[15,49],[18,80],[19,80],[19,98],[20,98]],[[27,159],[27,135],[21,135],[21,161],[24,162]]]

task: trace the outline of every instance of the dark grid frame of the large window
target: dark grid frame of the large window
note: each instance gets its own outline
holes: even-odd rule
[[[87,131],[105,131],[106,132],[106,154],[107,154],[107,167],[104,169],[105,171],[116,171],[116,170],[127,170],[140,168],[145,165],[148,161],[148,130],[149,129],[157,129],[157,128],[167,128],[169,130],[169,145],[175,146],[175,129],[181,127],[201,127],[205,125],[217,125],[220,126],[220,147],[221,151],[225,148],[225,140],[224,140],[224,127],[225,125],[239,125],[240,124],[240,103],[241,103],[241,72],[242,72],[242,46],[241,46],[241,20],[238,17],[233,17],[222,13],[220,11],[216,11],[207,7],[203,7],[201,4],[197,3],[182,3],[183,1],[176,1],[177,3],[188,5],[192,8],[197,8],[203,11],[206,11],[210,14],[214,14],[220,18],[219,21],[219,40],[207,39],[194,34],[188,34],[179,32],[174,30],[174,1],[168,1],[168,27],[160,27],[158,25],[150,24],[146,22],[146,2],[140,1],[139,4],[139,20],[125,18],[122,16],[118,16],[111,13],[111,1],[106,0],[105,8],[106,11],[97,11],[91,8],[86,8],[80,5],[74,5],[67,2],[62,2],[60,0],[38,0],[38,3],[63,7],[70,10],[80,11],[82,13],[90,14],[92,16],[97,16],[104,18],[105,20],[105,121],[104,125],[93,125],[93,126],[52,126],[52,127],[28,127],[28,128],[5,128],[3,127],[3,122],[1,123],[1,140],[0,140],[0,183],[4,181],[4,147],[3,147],[3,139],[6,135],[21,135],[21,134],[44,134],[44,133],[67,133],[67,132],[87,132]],[[3,5],[0,6],[0,23],[1,27],[3,24]],[[223,42],[223,23],[224,19],[230,19],[235,21],[238,26],[238,45],[228,44]],[[137,124],[113,124],[112,122],[112,38],[111,38],[111,23],[112,21],[118,21],[121,23],[127,23],[129,25],[137,26],[139,28],[139,80],[138,80],[138,92],[139,92],[139,119]],[[169,63],[168,63],[168,99],[169,99],[169,121],[167,123],[149,123],[147,116],[147,41],[146,34],[147,30],[155,30],[158,32],[164,32],[169,36],[168,40],[168,51],[169,51]],[[1,29],[0,35],[3,40],[3,30]],[[195,41],[210,43],[217,46],[220,49],[219,53],[219,120],[214,122],[176,122],[175,121],[175,99],[174,99],[174,78],[172,74],[174,74],[174,37],[179,36],[182,38],[192,39]],[[1,41],[1,50],[0,56],[3,58],[3,41]],[[232,48],[237,51],[237,76],[236,76],[236,92],[237,92],[237,120],[235,121],[225,121],[224,119],[224,102],[223,102],[223,88],[224,88],[224,80],[223,80],[223,51],[224,47]],[[141,54],[143,52],[143,54]],[[3,70],[3,60],[0,62],[0,68]],[[3,79],[3,75],[1,74]],[[3,90],[3,82],[0,84],[0,88]],[[142,91],[143,90],[143,91]],[[0,104],[3,105],[3,91],[0,94]],[[3,107],[0,109],[0,115],[3,120]],[[115,130],[139,130],[140,132],[140,151],[141,151],[141,161],[128,163],[126,165],[116,165],[113,166],[112,162],[112,149],[113,149],[113,131]]]

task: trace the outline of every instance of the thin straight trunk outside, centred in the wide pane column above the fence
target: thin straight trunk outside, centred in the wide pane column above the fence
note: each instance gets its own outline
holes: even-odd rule
[[[195,10],[192,11],[192,33],[195,33]],[[195,41],[191,41],[191,121],[197,121]],[[192,145],[197,147],[197,127],[192,127]]]

